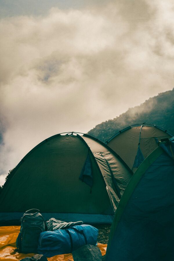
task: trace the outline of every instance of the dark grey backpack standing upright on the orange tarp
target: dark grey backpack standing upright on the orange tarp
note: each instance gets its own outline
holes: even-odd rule
[[[21,229],[16,240],[19,253],[37,253],[39,235],[45,231],[44,218],[38,209],[27,210],[21,218]]]

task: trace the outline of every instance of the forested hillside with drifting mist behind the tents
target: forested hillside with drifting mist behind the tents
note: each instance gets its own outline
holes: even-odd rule
[[[129,108],[115,119],[98,124],[88,134],[106,142],[118,131],[144,122],[160,126],[174,135],[174,88]]]

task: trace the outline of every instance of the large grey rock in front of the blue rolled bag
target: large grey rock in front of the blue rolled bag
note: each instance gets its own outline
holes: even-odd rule
[[[102,261],[102,253],[98,247],[85,245],[73,251],[74,261]]]

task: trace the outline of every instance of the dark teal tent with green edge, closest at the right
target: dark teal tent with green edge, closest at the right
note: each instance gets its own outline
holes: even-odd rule
[[[111,227],[106,260],[174,260],[174,137],[160,142],[126,187]]]

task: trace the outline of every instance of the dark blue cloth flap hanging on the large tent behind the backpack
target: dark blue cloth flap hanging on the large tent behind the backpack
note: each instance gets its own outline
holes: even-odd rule
[[[81,170],[79,179],[85,182],[88,186],[92,187],[93,185],[93,173],[92,173],[92,167],[91,167],[91,161],[89,153],[87,155],[85,164]]]

